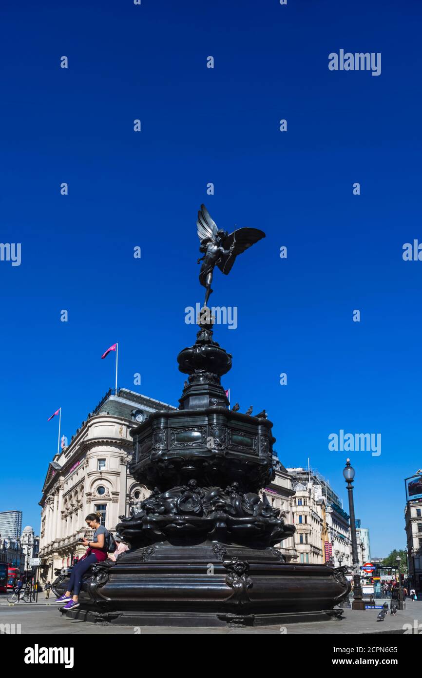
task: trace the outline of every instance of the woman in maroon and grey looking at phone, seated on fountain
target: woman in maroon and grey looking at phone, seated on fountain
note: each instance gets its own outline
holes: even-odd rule
[[[82,586],[82,577],[94,563],[101,563],[107,559],[106,535],[108,531],[101,525],[101,513],[89,513],[85,518],[88,527],[94,530],[91,541],[82,539],[84,546],[87,546],[85,555],[73,567],[70,574],[68,591],[56,598],[56,603],[66,603],[64,610],[72,610],[73,607],[79,607],[78,598]],[[73,593],[73,596],[72,596]]]

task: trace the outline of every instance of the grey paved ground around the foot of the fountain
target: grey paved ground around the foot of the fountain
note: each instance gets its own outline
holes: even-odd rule
[[[1,600],[1,599],[0,599]],[[381,601],[382,605],[383,601]],[[167,626],[98,626],[89,622],[68,620],[58,610],[54,603],[19,603],[7,605],[7,601],[0,602],[0,624],[20,624],[22,635],[127,635],[141,633],[142,635],[156,634],[183,634],[183,635],[300,635],[320,633],[326,635],[358,635],[362,633],[404,633],[404,624],[410,624],[415,629],[415,620],[421,624],[419,633],[422,634],[422,601],[413,603],[408,601],[406,610],[388,615],[383,622],[377,622],[379,610],[345,610],[342,620],[329,622],[313,622],[312,624],[289,624],[287,626],[261,626],[258,628],[242,629],[205,629],[183,628],[175,629]],[[18,627],[16,627],[18,630]],[[415,633],[415,631],[413,631]]]

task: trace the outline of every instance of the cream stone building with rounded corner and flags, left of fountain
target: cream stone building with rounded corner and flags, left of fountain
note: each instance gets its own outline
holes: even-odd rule
[[[131,428],[156,410],[175,407],[144,395],[119,389],[108,391],[82,422],[68,447],[49,463],[43,487],[39,557],[42,578],[68,567],[85,553],[79,539],[91,536],[85,517],[100,511],[102,524],[115,531],[120,515],[142,501],[149,490],[129,475],[132,456]]]

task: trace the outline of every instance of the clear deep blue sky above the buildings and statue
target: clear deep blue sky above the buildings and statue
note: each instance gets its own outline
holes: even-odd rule
[[[70,439],[113,384],[110,344],[120,386],[140,372],[141,393],[177,404],[205,202],[219,227],[267,235],[215,273],[211,304],[238,308],[215,331],[232,402],[265,407],[280,460],[309,457],[344,502],[329,434],[381,433],[381,456],[351,455],[356,516],[372,555],[404,548],[403,479],[422,466],[422,262],[402,260],[422,241],[422,9],[369,4],[3,3],[0,240],[22,263],[0,262],[0,510],[39,531],[47,417],[61,405]],[[329,71],[339,49],[381,52],[381,75]]]

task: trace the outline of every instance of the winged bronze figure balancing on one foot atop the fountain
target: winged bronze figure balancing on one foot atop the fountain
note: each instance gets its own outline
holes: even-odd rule
[[[245,252],[248,247],[257,243],[261,238],[265,238],[266,234],[259,231],[259,228],[238,228],[229,235],[228,231],[217,228],[217,224],[209,216],[205,205],[201,205],[196,226],[198,227],[198,238],[201,240],[199,250],[204,253],[204,256],[197,262],[198,264],[203,262],[199,272],[199,282],[205,287],[204,306],[207,306],[209,295],[213,292],[211,283],[215,264],[217,264],[221,273],[228,275],[232,270],[236,256]]]

